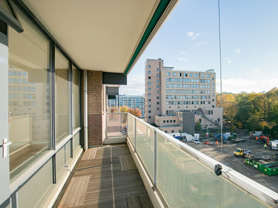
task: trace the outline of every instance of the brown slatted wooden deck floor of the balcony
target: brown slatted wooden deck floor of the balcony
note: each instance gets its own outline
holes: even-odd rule
[[[129,148],[122,145],[86,150],[58,207],[153,206]]]

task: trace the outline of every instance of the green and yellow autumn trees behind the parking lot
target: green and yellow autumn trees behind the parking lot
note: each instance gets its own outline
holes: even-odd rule
[[[216,94],[216,106],[220,107],[221,94]],[[278,89],[250,94],[241,92],[222,93],[224,125],[263,131],[277,137],[278,134]],[[278,138],[277,138],[278,139]]]

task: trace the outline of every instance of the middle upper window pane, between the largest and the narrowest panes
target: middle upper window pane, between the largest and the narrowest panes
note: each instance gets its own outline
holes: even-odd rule
[[[70,135],[70,81],[69,61],[56,49],[55,51],[55,116],[56,144]]]

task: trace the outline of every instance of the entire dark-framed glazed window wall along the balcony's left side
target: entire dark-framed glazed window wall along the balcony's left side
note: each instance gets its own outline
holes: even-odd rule
[[[22,1],[8,28],[10,207],[53,205],[81,148],[81,69]]]

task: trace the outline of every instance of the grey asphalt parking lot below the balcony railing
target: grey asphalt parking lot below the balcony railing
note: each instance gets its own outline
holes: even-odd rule
[[[250,139],[250,137],[240,137],[239,139],[245,139],[243,143],[230,143],[227,140],[227,144],[222,146],[222,155],[221,155],[221,145],[206,145],[203,144],[204,141],[213,141],[213,139],[203,139],[200,141],[200,144],[195,144],[192,141],[186,141],[185,144],[199,150],[200,152],[212,157],[213,159],[223,162],[226,166],[233,168],[238,173],[241,173],[247,177],[250,177],[252,180],[262,184],[272,191],[278,192],[278,175],[265,175],[261,171],[256,170],[252,166],[243,164],[244,157],[235,157],[234,150],[236,148],[248,149],[251,150],[251,154],[255,157],[271,157],[273,153],[278,153],[278,150],[270,150],[268,147],[266,150],[263,147],[263,144],[257,144],[255,139]]]

